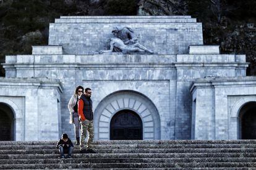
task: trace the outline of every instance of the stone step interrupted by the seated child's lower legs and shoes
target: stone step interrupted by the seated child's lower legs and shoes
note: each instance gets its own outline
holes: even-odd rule
[[[53,154],[0,154],[0,159],[49,159],[59,158]],[[256,153],[74,153],[73,158],[256,158]]]

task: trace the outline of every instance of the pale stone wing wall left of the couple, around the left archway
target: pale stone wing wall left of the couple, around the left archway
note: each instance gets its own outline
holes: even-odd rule
[[[0,102],[14,112],[14,140],[56,140],[61,132],[58,80],[1,78]]]

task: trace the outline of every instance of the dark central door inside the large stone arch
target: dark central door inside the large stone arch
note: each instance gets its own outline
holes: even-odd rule
[[[110,123],[110,140],[142,140],[142,119],[132,110],[118,111]]]

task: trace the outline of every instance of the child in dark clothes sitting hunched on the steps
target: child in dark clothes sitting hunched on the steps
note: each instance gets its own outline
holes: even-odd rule
[[[73,153],[74,145],[72,144],[67,134],[62,134],[62,137],[61,139],[59,139],[56,148],[59,149],[59,153],[61,153],[61,158],[64,158],[64,153],[68,153],[66,158],[72,158],[71,155]]]

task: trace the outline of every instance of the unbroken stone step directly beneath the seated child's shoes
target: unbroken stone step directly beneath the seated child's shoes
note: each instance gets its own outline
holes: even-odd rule
[[[0,164],[56,164],[56,163],[215,163],[255,162],[256,158],[46,158],[46,159],[3,159]]]

